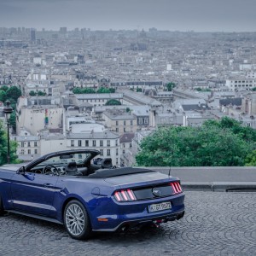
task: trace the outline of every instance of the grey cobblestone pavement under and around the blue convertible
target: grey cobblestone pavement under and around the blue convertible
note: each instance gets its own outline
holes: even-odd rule
[[[256,193],[186,192],[183,219],[76,241],[61,225],[0,218],[0,255],[256,255]]]

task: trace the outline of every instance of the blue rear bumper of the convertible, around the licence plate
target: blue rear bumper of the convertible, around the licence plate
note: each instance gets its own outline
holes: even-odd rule
[[[171,201],[172,209],[159,212],[148,212],[148,205]],[[184,195],[174,195],[161,198],[156,201],[137,201],[133,203],[113,203],[104,207],[106,212],[94,215],[92,230],[94,231],[117,231],[127,230],[148,224],[160,224],[183,218]],[[99,209],[98,209],[99,210]],[[96,217],[97,216],[97,217]]]

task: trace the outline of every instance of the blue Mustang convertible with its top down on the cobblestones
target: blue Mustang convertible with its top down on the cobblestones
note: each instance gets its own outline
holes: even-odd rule
[[[68,150],[0,169],[0,215],[15,212],[64,224],[75,239],[92,231],[127,230],[183,218],[178,178],[93,159],[97,150]]]

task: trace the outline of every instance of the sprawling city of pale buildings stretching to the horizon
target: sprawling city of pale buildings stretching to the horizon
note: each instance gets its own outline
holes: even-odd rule
[[[10,127],[20,160],[86,147],[131,166],[159,125],[229,116],[256,128],[255,32],[1,27],[0,38],[0,84],[22,95]]]

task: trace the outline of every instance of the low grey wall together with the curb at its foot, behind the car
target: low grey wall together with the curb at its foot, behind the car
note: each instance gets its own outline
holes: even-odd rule
[[[169,174],[168,167],[150,169]],[[256,167],[172,167],[184,190],[256,192]]]

